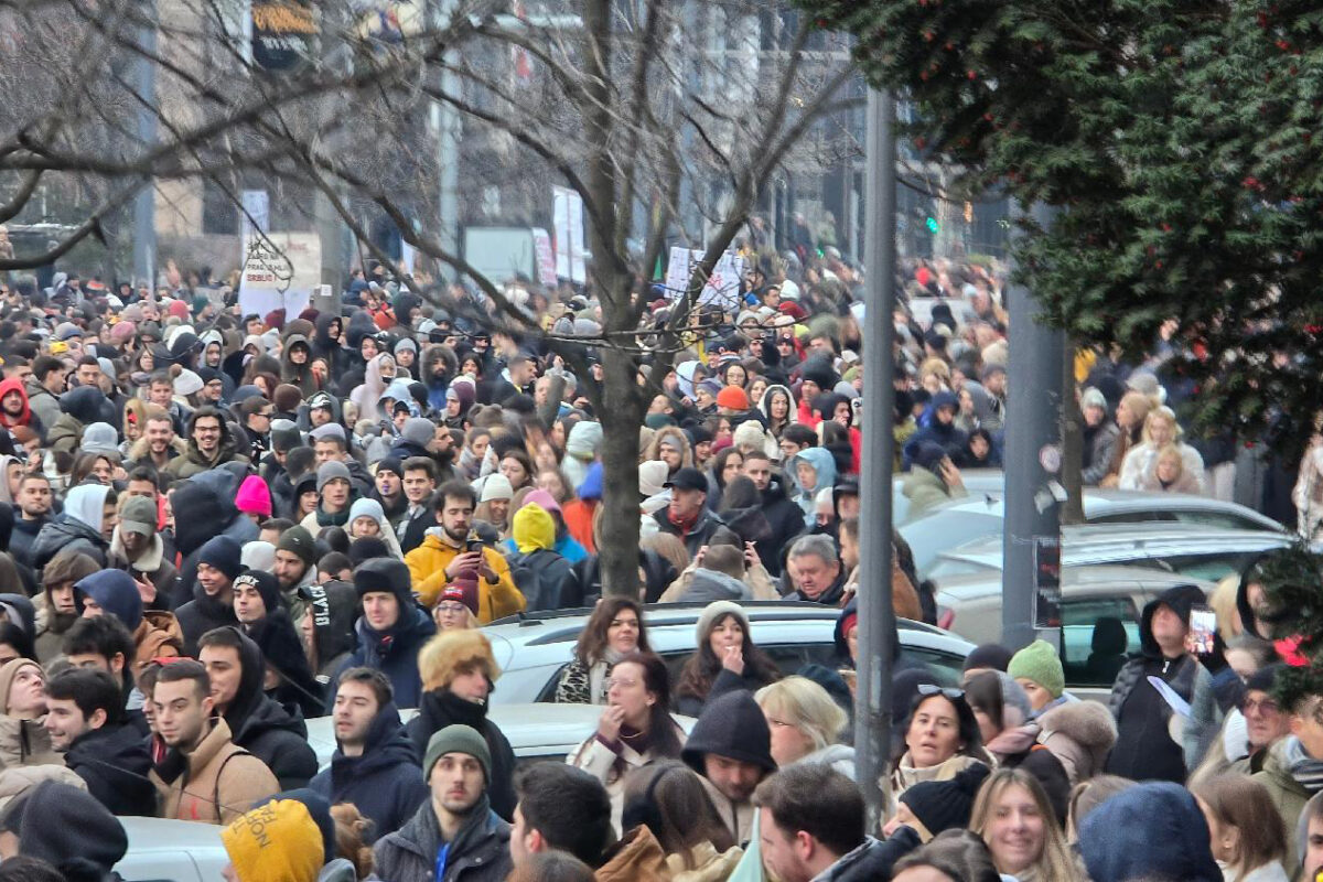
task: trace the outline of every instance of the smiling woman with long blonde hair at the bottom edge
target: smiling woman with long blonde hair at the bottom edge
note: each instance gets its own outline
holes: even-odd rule
[[[1076,882],[1080,875],[1039,780],[1000,768],[974,801],[970,829],[983,837],[998,873],[1019,882]]]

